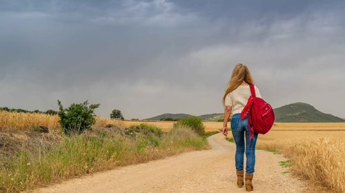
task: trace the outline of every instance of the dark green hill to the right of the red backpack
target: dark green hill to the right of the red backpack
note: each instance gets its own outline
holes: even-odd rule
[[[275,108],[275,122],[282,123],[304,123],[304,122],[345,122],[332,114],[326,114],[315,109],[307,103],[292,103]]]

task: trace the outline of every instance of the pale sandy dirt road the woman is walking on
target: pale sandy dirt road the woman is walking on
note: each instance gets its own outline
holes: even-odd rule
[[[259,139],[258,139],[259,140]],[[212,150],[119,167],[34,192],[246,192],[235,176],[235,144],[219,133],[208,138]],[[279,165],[284,157],[257,150],[253,192],[303,192],[304,184]]]

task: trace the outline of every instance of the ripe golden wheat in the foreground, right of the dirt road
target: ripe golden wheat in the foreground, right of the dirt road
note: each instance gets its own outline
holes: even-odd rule
[[[257,148],[278,150],[291,159],[293,173],[316,184],[314,191],[326,187],[328,192],[345,192],[344,147],[344,140],[329,137],[257,141]]]

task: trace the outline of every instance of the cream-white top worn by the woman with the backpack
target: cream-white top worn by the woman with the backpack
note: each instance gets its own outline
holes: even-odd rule
[[[254,85],[255,95],[262,98],[259,89]],[[225,105],[232,107],[231,115],[241,113],[250,96],[249,85],[239,85],[235,90],[226,95]]]

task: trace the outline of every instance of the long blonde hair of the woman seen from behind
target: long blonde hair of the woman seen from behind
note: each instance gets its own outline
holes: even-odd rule
[[[237,63],[233,70],[233,74],[231,74],[230,80],[228,81],[228,85],[226,86],[226,91],[223,96],[223,105],[225,103],[226,95],[235,90],[239,85],[241,85],[241,83],[243,83],[243,81],[247,84],[254,84],[252,74],[250,74],[248,67],[242,63]]]

